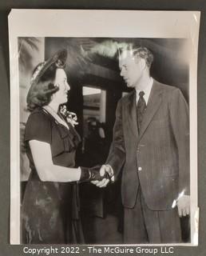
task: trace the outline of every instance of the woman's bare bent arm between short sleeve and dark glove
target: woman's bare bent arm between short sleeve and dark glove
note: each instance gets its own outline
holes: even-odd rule
[[[34,165],[42,182],[76,182],[81,176],[80,168],[69,168],[53,164],[50,144],[30,140]]]

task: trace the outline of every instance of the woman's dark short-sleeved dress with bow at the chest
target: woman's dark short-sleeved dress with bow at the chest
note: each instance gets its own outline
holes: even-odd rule
[[[73,126],[69,125],[68,130],[46,110],[39,108],[30,114],[25,142],[31,174],[22,202],[22,243],[82,243],[77,184],[42,182],[30,152],[28,142],[32,139],[49,143],[53,164],[65,167],[75,165],[75,150],[80,142]]]

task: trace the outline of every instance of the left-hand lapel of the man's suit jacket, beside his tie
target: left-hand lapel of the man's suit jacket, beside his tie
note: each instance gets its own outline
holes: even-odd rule
[[[137,102],[136,102],[136,92],[133,92],[127,98],[127,104],[125,107],[126,120],[129,122],[129,128],[133,131],[134,136],[138,137],[137,129]]]

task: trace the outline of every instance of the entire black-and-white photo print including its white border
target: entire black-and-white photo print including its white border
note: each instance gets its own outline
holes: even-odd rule
[[[10,13],[11,244],[198,245],[199,23]]]

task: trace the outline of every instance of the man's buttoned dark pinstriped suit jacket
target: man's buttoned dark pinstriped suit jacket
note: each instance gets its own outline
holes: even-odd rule
[[[151,210],[169,210],[180,192],[189,193],[189,114],[179,89],[154,80],[140,134],[135,90],[120,99],[107,163],[115,178],[123,167],[125,207],[135,205],[140,184]]]

